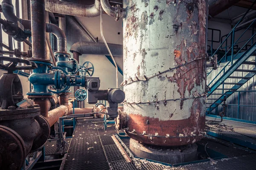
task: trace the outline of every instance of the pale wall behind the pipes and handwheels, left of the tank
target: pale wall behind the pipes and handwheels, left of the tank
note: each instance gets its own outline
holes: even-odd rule
[[[113,17],[103,14],[103,34],[108,43],[122,44],[122,20],[116,22]],[[98,42],[103,42],[100,33],[100,16],[93,18],[77,17],[77,19],[84,25],[85,28],[93,35],[98,37]],[[67,17],[67,49],[70,50],[71,45],[79,41],[88,41],[88,37],[81,31],[81,29],[73,22],[70,17]],[[120,32],[120,34],[118,34]],[[71,53],[71,57],[73,54]],[[122,67],[122,57],[114,57],[116,63]],[[100,89],[116,88],[116,68],[103,55],[82,55],[79,58],[79,63],[82,65],[85,61],[90,61],[94,65],[93,76],[100,78]],[[118,73],[118,84],[123,81],[123,77]],[[119,87],[123,89],[122,87]],[[73,91],[73,88],[70,88]],[[73,95],[73,94],[72,94]],[[92,106],[92,105],[91,105]],[[90,107],[85,102],[85,107]]]

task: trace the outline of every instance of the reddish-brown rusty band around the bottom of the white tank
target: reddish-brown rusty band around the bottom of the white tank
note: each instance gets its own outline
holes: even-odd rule
[[[175,146],[176,144],[192,144],[203,138],[204,128],[205,128],[205,115],[201,116],[201,108],[203,107],[201,99],[194,99],[192,107],[190,108],[190,117],[183,120],[160,120],[159,118],[142,116],[139,114],[130,113],[129,121],[127,125],[129,131],[136,130],[136,135],[138,141],[147,143],[147,144],[156,144],[154,140],[149,142],[145,136],[143,136],[143,131],[146,131],[148,135],[153,135],[158,133],[160,137],[157,139],[160,142],[159,145],[169,145]],[[173,113],[166,114],[170,117],[173,116]],[[150,126],[147,126],[145,122],[150,122]],[[128,132],[126,130],[126,132]],[[127,133],[131,137],[131,133]],[[166,137],[166,134],[169,134],[170,138]],[[180,136],[184,136],[180,138]],[[196,138],[196,140],[189,140],[190,138]],[[177,140],[178,139],[178,140]],[[163,140],[168,140],[168,142],[163,142]],[[175,143],[177,140],[177,143]],[[189,142],[188,142],[189,141]],[[181,145],[182,145],[181,144]],[[163,146],[164,146],[163,145]]]

